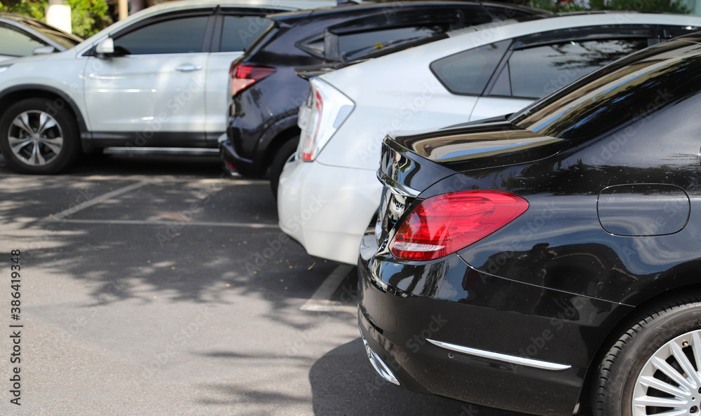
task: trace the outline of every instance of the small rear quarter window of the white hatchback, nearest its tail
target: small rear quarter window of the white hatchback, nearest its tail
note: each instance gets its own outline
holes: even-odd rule
[[[445,88],[454,94],[480,95],[511,41],[501,41],[465,50],[430,64]]]

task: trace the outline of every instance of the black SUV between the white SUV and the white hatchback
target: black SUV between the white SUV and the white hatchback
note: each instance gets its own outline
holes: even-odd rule
[[[299,141],[297,111],[309,84],[295,74],[358,62],[446,32],[495,20],[550,14],[509,4],[416,1],[353,4],[271,15],[273,25],[231,65],[231,119],[222,158],[229,172],[278,177]],[[358,80],[362,82],[362,80]]]

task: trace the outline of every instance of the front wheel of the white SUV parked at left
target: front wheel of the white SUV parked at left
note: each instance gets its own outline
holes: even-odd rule
[[[22,100],[0,118],[0,149],[18,172],[59,173],[80,150],[75,117],[67,109],[56,109],[50,99]]]

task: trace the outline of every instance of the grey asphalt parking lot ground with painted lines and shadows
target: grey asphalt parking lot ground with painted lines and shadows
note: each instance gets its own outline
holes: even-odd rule
[[[384,382],[355,270],[308,256],[216,154],[0,165],[0,415],[517,416]]]

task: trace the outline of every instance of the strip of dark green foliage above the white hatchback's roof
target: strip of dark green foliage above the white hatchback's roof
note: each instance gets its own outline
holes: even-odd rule
[[[690,13],[683,0],[530,0],[529,5],[553,12],[588,10]]]

